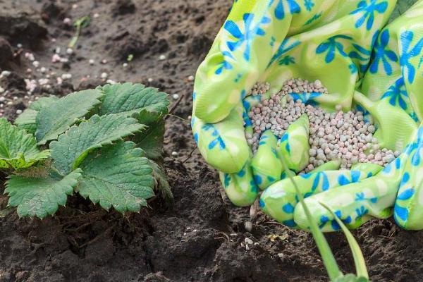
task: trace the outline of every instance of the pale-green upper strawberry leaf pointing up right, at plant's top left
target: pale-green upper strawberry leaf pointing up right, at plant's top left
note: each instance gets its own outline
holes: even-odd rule
[[[44,145],[49,140],[56,140],[69,126],[99,104],[99,97],[102,97],[99,90],[83,90],[43,106],[37,115],[35,137],[38,144]]]

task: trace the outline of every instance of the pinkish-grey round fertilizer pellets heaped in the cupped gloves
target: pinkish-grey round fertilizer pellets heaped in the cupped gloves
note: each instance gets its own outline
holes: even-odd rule
[[[269,90],[268,83],[257,83],[252,87],[252,95],[262,95]],[[302,79],[287,80],[282,90],[270,97],[262,99],[252,106],[248,116],[252,122],[253,134],[246,134],[252,151],[257,152],[260,135],[270,129],[276,137],[281,138],[288,126],[302,114],[309,118],[309,164],[304,169],[307,173],[322,164],[340,160],[341,168],[348,169],[357,163],[373,163],[385,166],[398,157],[400,152],[380,148],[373,137],[376,130],[370,122],[364,121],[361,111],[344,113],[340,105],[336,112],[328,113],[318,106],[305,105],[300,99],[294,101],[289,94],[319,92],[327,94],[328,90],[319,80],[309,82]],[[280,103],[286,96],[286,103]]]

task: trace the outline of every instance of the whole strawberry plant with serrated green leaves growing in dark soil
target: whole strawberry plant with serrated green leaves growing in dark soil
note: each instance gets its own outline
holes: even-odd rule
[[[104,209],[138,212],[160,190],[167,94],[141,84],[43,97],[15,124],[0,119],[0,169],[19,216],[44,218],[79,193]]]

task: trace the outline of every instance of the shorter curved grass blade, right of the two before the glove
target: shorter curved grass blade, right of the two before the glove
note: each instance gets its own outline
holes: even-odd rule
[[[348,245],[350,245],[351,252],[353,253],[354,263],[355,263],[355,271],[357,272],[357,276],[362,276],[364,278],[369,279],[369,274],[367,273],[367,267],[366,262],[364,261],[364,257],[362,254],[362,251],[360,249],[360,246],[358,245],[357,241],[355,240],[353,234],[348,230],[347,226],[341,221],[341,219],[336,216],[336,214],[333,212],[333,210],[328,207],[323,202],[319,202],[325,209],[327,209],[332,216],[335,218],[336,222],[341,226],[341,229],[343,233],[345,234],[345,237],[348,240]]]

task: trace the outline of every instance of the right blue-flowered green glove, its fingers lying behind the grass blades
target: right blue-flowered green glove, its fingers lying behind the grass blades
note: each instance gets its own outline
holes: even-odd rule
[[[323,231],[340,227],[321,203],[349,228],[393,214],[399,226],[423,229],[422,35],[423,1],[418,1],[381,30],[360,92],[353,95],[355,106],[378,125],[374,136],[381,147],[403,153],[379,173],[381,168],[360,164],[351,171],[313,171],[294,177]],[[309,228],[289,179],[267,188],[260,205],[281,223]]]

